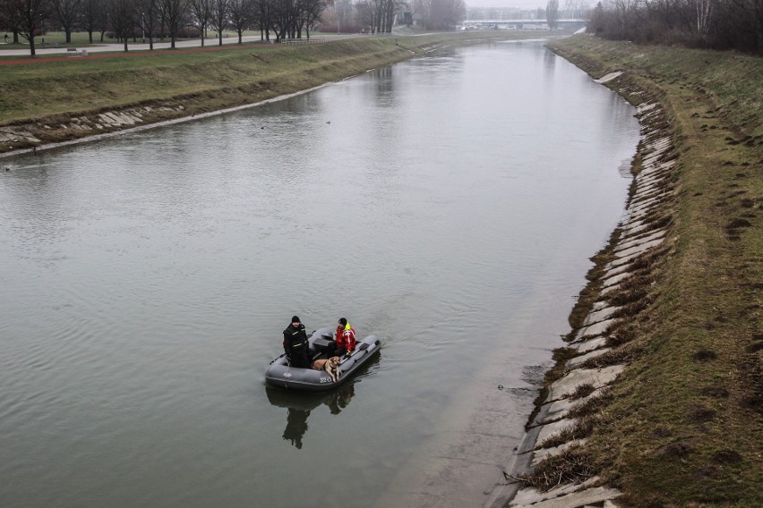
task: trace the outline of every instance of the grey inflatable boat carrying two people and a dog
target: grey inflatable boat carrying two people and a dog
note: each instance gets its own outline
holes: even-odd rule
[[[328,350],[333,342],[333,333],[329,328],[315,330],[307,340],[310,343],[310,357],[314,360],[328,358]],[[375,335],[369,335],[356,343],[355,351],[349,356],[344,356],[339,363],[339,380],[334,383],[325,370],[313,368],[296,368],[288,364],[286,353],[270,362],[265,372],[265,381],[269,385],[293,388],[308,392],[325,392],[336,386],[342,385],[352,377],[365,362],[379,351],[381,343]]]

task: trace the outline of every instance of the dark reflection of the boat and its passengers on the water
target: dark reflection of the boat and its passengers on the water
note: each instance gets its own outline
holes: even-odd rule
[[[307,433],[307,418],[311,411],[328,406],[333,415],[338,415],[347,407],[355,396],[356,384],[368,376],[368,369],[379,363],[380,355],[369,361],[357,373],[355,378],[347,385],[340,385],[336,390],[316,394],[313,392],[299,392],[287,390],[278,386],[265,385],[265,393],[268,402],[279,408],[287,408],[287,426],[284,428],[283,439],[289,441],[297,450],[302,449],[302,440]]]

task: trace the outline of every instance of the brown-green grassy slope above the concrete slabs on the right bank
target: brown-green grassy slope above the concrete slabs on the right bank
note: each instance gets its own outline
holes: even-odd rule
[[[659,101],[677,161],[673,241],[615,333],[630,367],[588,420],[587,459],[632,506],[761,506],[763,60],[586,36],[553,49]]]

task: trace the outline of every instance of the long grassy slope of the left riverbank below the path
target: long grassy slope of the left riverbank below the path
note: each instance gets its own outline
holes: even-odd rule
[[[208,51],[133,52],[4,66],[0,128],[34,140],[0,140],[0,152],[72,140],[120,126],[91,128],[98,114],[140,108],[142,123],[208,113],[341,80],[436,47],[533,32],[450,32],[420,37],[368,37],[326,44],[250,44]],[[82,122],[72,125],[72,120]],[[79,122],[79,121],[78,121]],[[81,125],[90,128],[81,128]]]

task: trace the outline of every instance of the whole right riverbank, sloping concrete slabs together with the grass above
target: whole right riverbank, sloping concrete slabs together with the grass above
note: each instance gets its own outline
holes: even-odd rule
[[[638,105],[642,140],[493,506],[763,505],[763,67],[737,89],[733,55],[554,47]]]

